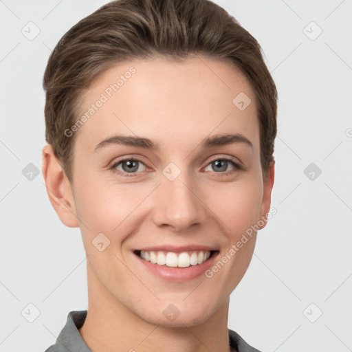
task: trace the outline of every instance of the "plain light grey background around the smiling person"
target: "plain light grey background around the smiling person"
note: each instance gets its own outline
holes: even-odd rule
[[[41,173],[22,171],[41,169],[51,50],[107,2],[0,1],[1,352],[45,351],[68,312],[87,309],[80,232],[59,221]],[[232,293],[228,326],[261,351],[352,351],[352,1],[215,2],[261,43],[279,94],[277,214]],[[32,40],[21,32],[35,33],[30,21]],[[322,170],[313,180],[311,163]]]

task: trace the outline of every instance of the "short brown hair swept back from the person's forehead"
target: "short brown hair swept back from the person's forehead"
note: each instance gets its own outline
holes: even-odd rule
[[[43,77],[45,137],[70,181],[80,99],[94,78],[118,63],[146,56],[230,59],[254,89],[261,167],[274,160],[277,91],[254,37],[209,0],[116,0],[74,25],[57,43]]]

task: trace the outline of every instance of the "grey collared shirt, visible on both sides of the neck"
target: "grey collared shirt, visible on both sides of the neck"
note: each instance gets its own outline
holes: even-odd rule
[[[78,329],[83,327],[87,311],[70,311],[67,316],[65,327],[61,330],[56,343],[45,352],[91,352],[85,344]],[[261,352],[250,345],[239,336],[238,333],[228,329],[230,347],[237,352]]]

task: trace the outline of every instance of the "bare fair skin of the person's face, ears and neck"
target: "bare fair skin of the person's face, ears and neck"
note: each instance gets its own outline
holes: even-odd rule
[[[72,184],[51,146],[43,148],[50,201],[65,225],[80,227],[87,252],[89,307],[80,334],[92,351],[228,352],[230,294],[248,269],[256,233],[212,278],[187,282],[148,272],[132,250],[197,243],[219,248],[221,258],[269,212],[274,162],[263,180],[254,91],[226,61],[153,58],[108,69],[86,91],[82,111],[131,66],[136,73],[75,132]],[[252,100],[244,111],[232,103],[240,92]],[[225,133],[241,133],[253,148],[200,148]],[[114,134],[148,137],[160,149],[94,151]],[[118,173],[128,174],[126,164],[110,168],[126,156],[141,162],[132,177]],[[212,164],[231,157],[243,168]],[[162,173],[170,162],[181,171],[173,181]],[[101,232],[111,241],[102,252],[91,243]],[[163,314],[170,304],[180,312],[173,322]]]

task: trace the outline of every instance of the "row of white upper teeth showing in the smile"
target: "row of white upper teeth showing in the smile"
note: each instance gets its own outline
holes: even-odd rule
[[[210,251],[197,251],[192,252],[192,254],[181,252],[177,254],[174,252],[147,252],[141,250],[140,256],[142,259],[157,265],[166,265],[168,267],[189,267],[190,265],[197,265],[205,262],[210,256]]]

